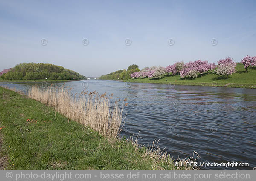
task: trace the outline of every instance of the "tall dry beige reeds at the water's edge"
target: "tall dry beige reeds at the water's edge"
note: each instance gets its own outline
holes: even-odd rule
[[[28,97],[53,107],[67,118],[90,126],[105,136],[117,136],[123,120],[123,108],[118,102],[111,102],[106,94],[81,92],[73,95],[71,89],[55,89],[52,86],[41,90],[33,86]]]

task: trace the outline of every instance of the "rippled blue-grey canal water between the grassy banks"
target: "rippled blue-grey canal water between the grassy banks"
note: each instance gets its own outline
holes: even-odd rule
[[[113,98],[128,99],[122,135],[137,135],[140,144],[160,140],[174,158],[199,153],[201,161],[244,162],[250,167],[226,170],[253,170],[256,164],[256,89],[124,83],[86,80],[87,90],[114,93]],[[0,83],[26,92],[35,83]],[[39,86],[40,83],[36,83]],[[53,83],[63,86],[63,83]],[[82,81],[67,82],[73,92],[84,90]],[[48,83],[50,86],[50,83]],[[222,169],[208,167],[205,169]]]

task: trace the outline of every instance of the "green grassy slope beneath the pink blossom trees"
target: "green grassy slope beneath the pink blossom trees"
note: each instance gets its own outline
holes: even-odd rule
[[[140,82],[140,83],[174,83],[179,85],[200,85],[200,86],[215,86],[215,82],[218,86],[228,87],[241,87],[241,88],[256,88],[256,68],[249,68],[248,72],[245,72],[244,65],[239,63],[236,66],[236,73],[229,75],[229,78],[216,75],[212,72],[209,75],[204,74],[195,79],[183,79],[180,75],[165,75],[163,78],[132,78],[128,80],[123,80],[127,82]],[[167,81],[166,81],[167,79]],[[234,84],[235,83],[235,84]]]

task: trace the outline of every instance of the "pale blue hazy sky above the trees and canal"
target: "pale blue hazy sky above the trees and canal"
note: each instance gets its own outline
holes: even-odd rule
[[[100,76],[134,63],[256,56],[255,0],[6,0],[0,24],[0,70],[42,62]]]

